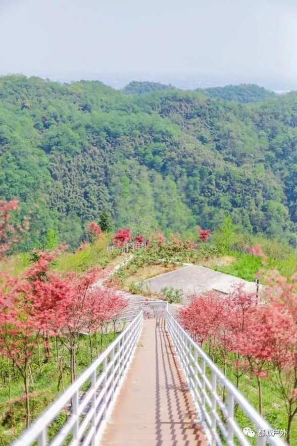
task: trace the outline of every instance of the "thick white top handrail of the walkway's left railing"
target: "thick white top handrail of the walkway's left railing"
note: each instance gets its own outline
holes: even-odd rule
[[[132,322],[137,321],[138,318],[143,318],[143,311],[139,310],[138,315]],[[120,341],[131,330],[131,324],[109,344],[106,349],[99,355],[99,357],[66,389],[56,400],[54,400],[48,409],[41,414],[34,423],[12,444],[12,446],[30,445],[37,441],[39,436],[43,433],[45,425],[49,424],[56,418],[69,400],[80,390],[82,385],[92,377],[92,374],[103,363],[105,358],[112,352],[112,350],[120,344]],[[34,438],[33,438],[34,437]],[[32,440],[33,438],[33,440]],[[43,443],[41,443],[43,444]],[[44,443],[46,445],[47,443]]]

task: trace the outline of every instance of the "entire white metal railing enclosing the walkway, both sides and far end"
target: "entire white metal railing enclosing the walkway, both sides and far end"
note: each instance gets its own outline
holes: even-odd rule
[[[122,318],[130,322],[128,327],[12,446],[98,445],[106,415],[112,411],[141,335],[144,318],[166,319],[168,334],[193,397],[198,422],[209,445],[250,446],[255,445],[255,440],[257,446],[286,445],[279,435],[269,435],[275,431],[185,332],[170,314],[166,302],[136,302],[135,308]],[[223,389],[224,400],[221,397]],[[245,435],[243,427],[238,425],[236,406],[247,420],[247,430],[255,432],[254,438]],[[49,439],[52,423],[59,419],[61,422],[62,418],[65,420],[63,426]],[[257,436],[257,432],[263,435]],[[69,442],[65,443],[67,439]]]

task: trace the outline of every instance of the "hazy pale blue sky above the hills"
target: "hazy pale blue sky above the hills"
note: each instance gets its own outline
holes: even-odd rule
[[[0,0],[0,71],[297,75],[297,0]]]

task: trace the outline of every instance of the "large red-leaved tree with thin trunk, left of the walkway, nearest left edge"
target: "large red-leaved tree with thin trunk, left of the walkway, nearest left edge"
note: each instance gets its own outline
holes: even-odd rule
[[[13,362],[23,378],[27,427],[30,423],[28,374],[31,358],[40,344],[46,344],[45,334],[62,326],[62,315],[68,303],[67,280],[49,273],[56,255],[42,253],[25,277],[8,278],[0,288],[0,353]]]

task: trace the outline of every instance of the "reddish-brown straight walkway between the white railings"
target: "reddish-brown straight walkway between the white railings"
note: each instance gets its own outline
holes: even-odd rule
[[[102,446],[206,446],[165,319],[147,319],[100,442]]]

